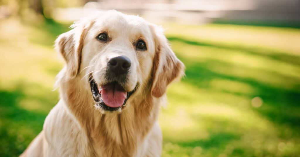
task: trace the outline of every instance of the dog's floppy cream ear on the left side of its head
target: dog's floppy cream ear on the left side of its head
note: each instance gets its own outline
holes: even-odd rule
[[[58,36],[55,49],[60,52],[67,65],[67,76],[74,78],[80,69],[81,51],[89,26],[81,21],[74,23],[70,31]]]

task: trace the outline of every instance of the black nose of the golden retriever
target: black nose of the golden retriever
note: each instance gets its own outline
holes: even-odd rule
[[[111,72],[114,72],[116,75],[122,75],[128,72],[131,63],[128,57],[119,56],[111,58],[107,65]]]

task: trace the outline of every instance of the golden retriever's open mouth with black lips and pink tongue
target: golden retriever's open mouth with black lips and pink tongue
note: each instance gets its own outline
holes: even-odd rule
[[[116,111],[125,106],[126,101],[136,91],[137,86],[132,91],[125,89],[118,82],[110,82],[98,87],[92,76],[89,77],[91,92],[96,105],[107,111]]]

